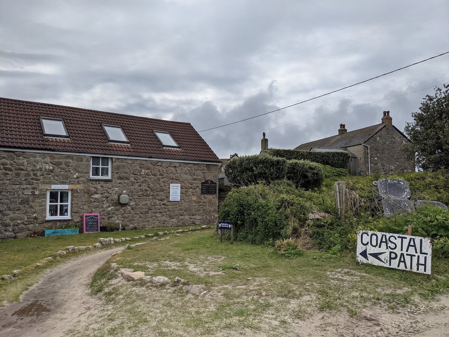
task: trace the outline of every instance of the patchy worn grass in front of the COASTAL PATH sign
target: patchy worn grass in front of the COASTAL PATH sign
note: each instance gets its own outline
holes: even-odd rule
[[[112,262],[150,276],[180,277],[197,285],[198,292],[174,284],[161,287],[126,281],[110,272]],[[295,324],[323,319],[318,315],[323,312],[334,313],[326,316],[331,319],[335,313],[357,317],[378,308],[378,312],[396,317],[400,316],[396,310],[424,308],[449,290],[449,262],[434,261],[432,271],[429,278],[357,266],[354,254],[315,250],[287,259],[268,246],[220,244],[212,231],[183,234],[124,250],[109,259],[91,283],[92,295],[105,303],[107,314],[99,318],[101,324],[71,333],[114,336],[152,331],[158,336],[229,336],[250,331],[254,335],[295,335]]]

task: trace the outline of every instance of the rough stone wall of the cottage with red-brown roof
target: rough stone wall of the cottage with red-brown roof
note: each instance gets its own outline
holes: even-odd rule
[[[122,227],[216,222],[218,196],[202,195],[201,182],[218,182],[220,165],[113,158],[112,179],[92,180],[90,160],[83,155],[0,151],[0,236],[80,223],[83,213],[100,213],[102,223],[121,221]],[[170,183],[181,184],[180,201],[169,201]],[[45,219],[43,185],[51,184],[81,185],[72,190],[71,220]],[[121,194],[129,195],[128,204],[119,204]]]

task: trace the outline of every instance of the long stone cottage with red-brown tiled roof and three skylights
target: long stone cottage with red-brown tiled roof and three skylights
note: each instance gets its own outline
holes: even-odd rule
[[[0,98],[0,237],[83,213],[122,228],[213,223],[218,195],[201,182],[220,164],[190,123]]]

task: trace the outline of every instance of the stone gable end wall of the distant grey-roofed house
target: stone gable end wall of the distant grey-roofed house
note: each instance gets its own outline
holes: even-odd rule
[[[409,140],[392,125],[386,125],[367,142],[370,146],[371,173],[414,172],[414,160],[407,159]],[[365,174],[368,173],[368,151],[365,151]]]

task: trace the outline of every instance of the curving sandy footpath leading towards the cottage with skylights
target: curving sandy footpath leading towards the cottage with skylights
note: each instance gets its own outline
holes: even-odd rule
[[[65,336],[97,312],[90,296],[90,279],[95,271],[120,249],[114,247],[82,255],[57,266],[27,290],[19,302],[0,309],[0,335]]]

